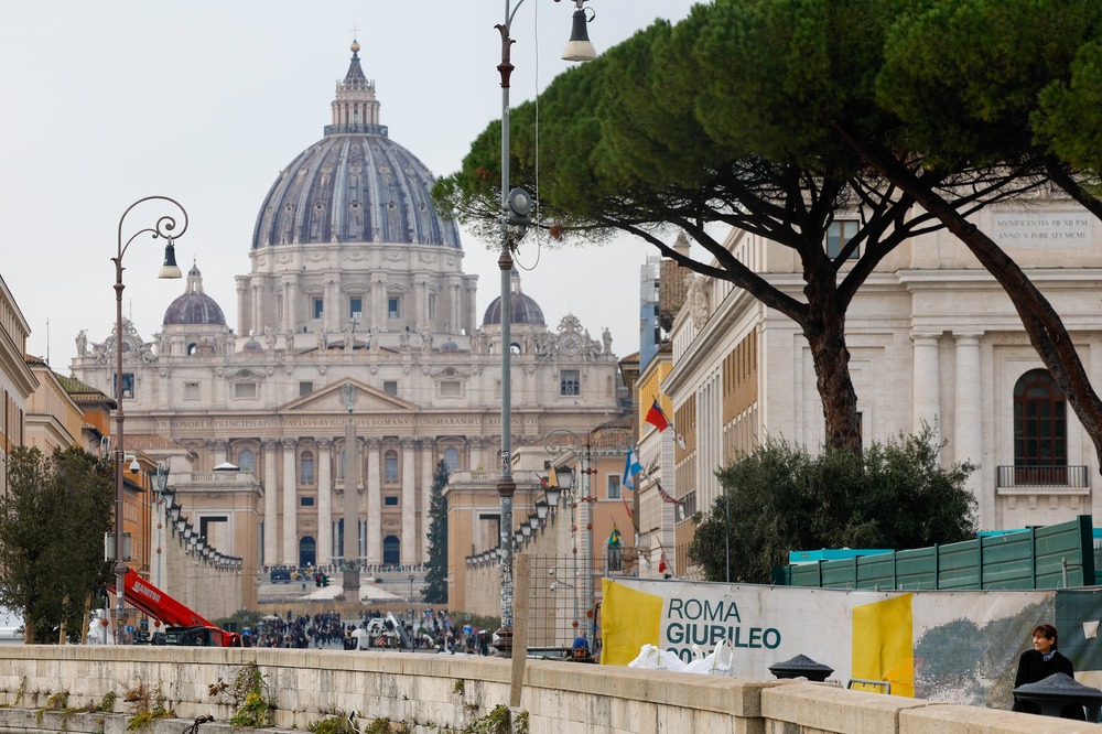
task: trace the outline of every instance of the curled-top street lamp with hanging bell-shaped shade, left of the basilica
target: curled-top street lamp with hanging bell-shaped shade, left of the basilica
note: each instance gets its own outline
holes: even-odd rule
[[[169,203],[180,209],[183,215],[182,225],[176,226],[176,215],[175,214],[162,214],[158,217],[156,223],[152,227],[143,227],[130,236],[125,242],[122,241],[122,226],[126,222],[127,215],[129,215],[136,206],[143,204],[145,202],[156,201],[160,203]],[[180,268],[176,267],[176,253],[173,249],[173,239],[182,236],[187,230],[187,212],[183,206],[180,205],[173,198],[168,196],[145,196],[144,198],[139,198],[137,202],[127,207],[127,211],[122,213],[119,217],[119,238],[118,238],[118,253],[111,258],[115,262],[115,640],[118,643],[121,639],[122,632],[122,613],[123,613],[123,598],[126,596],[126,580],[127,580],[127,563],[123,559],[123,548],[122,548],[122,528],[123,528],[123,516],[122,508],[126,499],[123,493],[123,481],[122,481],[122,463],[125,461],[126,453],[123,452],[123,441],[122,441],[122,422],[126,420],[122,410],[122,398],[125,390],[122,389],[122,352],[127,344],[122,338],[122,291],[126,285],[122,284],[122,256],[126,255],[127,248],[130,244],[138,239],[139,236],[149,234],[153,239],[158,237],[163,237],[165,239],[164,246],[164,263],[161,266],[161,270],[158,272],[158,278],[180,278],[182,273]]]

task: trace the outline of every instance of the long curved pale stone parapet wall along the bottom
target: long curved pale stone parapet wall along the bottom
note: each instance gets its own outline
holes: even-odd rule
[[[68,693],[67,705],[98,705],[138,680],[160,686],[182,720],[234,714],[219,681],[255,662],[279,702],[276,725],[306,730],[334,713],[415,724],[414,731],[468,726],[509,702],[507,660],[338,650],[168,647],[0,647],[0,731],[62,731],[35,710]],[[975,706],[846,691],[803,681],[752,681],[655,670],[529,660],[520,709],[531,734],[1068,734],[1095,724],[1038,719]],[[33,721],[36,723],[32,723]],[[104,721],[107,720],[105,725]],[[121,724],[119,722],[122,722]],[[181,721],[156,731],[181,731]],[[187,722],[183,722],[187,723]],[[71,714],[64,731],[125,731],[125,716]],[[117,728],[118,726],[122,728]],[[210,730],[216,728],[215,725]]]

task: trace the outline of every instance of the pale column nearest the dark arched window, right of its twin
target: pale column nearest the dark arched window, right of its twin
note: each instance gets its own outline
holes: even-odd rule
[[[982,334],[953,334],[957,342],[957,389],[953,413],[953,461],[971,461],[979,465],[983,461],[983,414],[980,386],[980,337]],[[968,479],[968,488],[975,497],[980,510],[980,529],[994,527],[994,508],[984,496],[982,473],[973,472]]]

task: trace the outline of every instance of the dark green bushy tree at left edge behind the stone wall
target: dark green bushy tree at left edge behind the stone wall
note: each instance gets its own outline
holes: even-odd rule
[[[108,580],[104,533],[115,498],[110,467],[78,449],[17,446],[0,497],[0,604],[24,611],[24,640],[78,636],[85,602]]]

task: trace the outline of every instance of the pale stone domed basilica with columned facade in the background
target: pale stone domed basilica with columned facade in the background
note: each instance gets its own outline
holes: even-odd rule
[[[422,562],[433,467],[500,466],[501,348],[515,352],[514,445],[617,410],[607,331],[594,338],[570,314],[549,328],[516,276],[511,345],[501,299],[479,319],[458,230],[433,209],[432,174],[381,125],[358,51],[332,125],[260,206],[236,327],[192,267],[158,334],[127,322],[122,335],[127,435],[179,447],[163,453],[185,512],[247,568]],[[112,393],[116,335],[104,336],[78,339],[73,369]],[[495,482],[456,527],[498,507]]]

